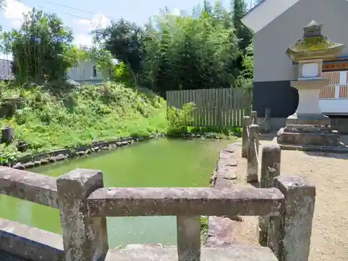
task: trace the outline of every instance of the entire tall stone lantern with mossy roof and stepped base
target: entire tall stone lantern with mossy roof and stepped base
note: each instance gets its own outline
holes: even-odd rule
[[[288,150],[346,150],[338,132],[331,129],[329,117],[319,107],[320,90],[329,84],[322,78],[323,61],[338,57],[345,45],[324,37],[322,24],[315,21],[303,31],[303,38],[286,51],[292,61],[299,63],[298,78],[291,81],[291,86],[299,90],[299,105],[278,131],[278,144]]]

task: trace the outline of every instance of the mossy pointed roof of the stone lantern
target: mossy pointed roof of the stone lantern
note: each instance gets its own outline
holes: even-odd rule
[[[331,42],[322,35],[322,24],[312,21],[303,27],[303,38],[297,40],[293,47],[288,48],[286,54],[292,61],[327,60],[339,56],[344,48],[344,44]]]

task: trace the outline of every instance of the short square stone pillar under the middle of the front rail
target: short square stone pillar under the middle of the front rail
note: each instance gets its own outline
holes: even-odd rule
[[[179,261],[200,261],[200,216],[177,216]]]

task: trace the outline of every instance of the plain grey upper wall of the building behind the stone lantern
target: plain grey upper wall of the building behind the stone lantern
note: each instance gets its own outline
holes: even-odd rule
[[[264,15],[267,15],[265,13]],[[254,35],[254,81],[296,79],[296,66],[285,54],[303,36],[303,26],[315,20],[333,42],[345,43],[348,54],[348,1],[300,0]]]

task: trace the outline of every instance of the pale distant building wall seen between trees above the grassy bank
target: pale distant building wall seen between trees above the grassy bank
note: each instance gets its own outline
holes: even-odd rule
[[[80,61],[77,67],[70,68],[68,77],[74,81],[102,80],[102,73],[97,70],[97,77],[93,77],[93,66],[97,66],[95,61]]]

